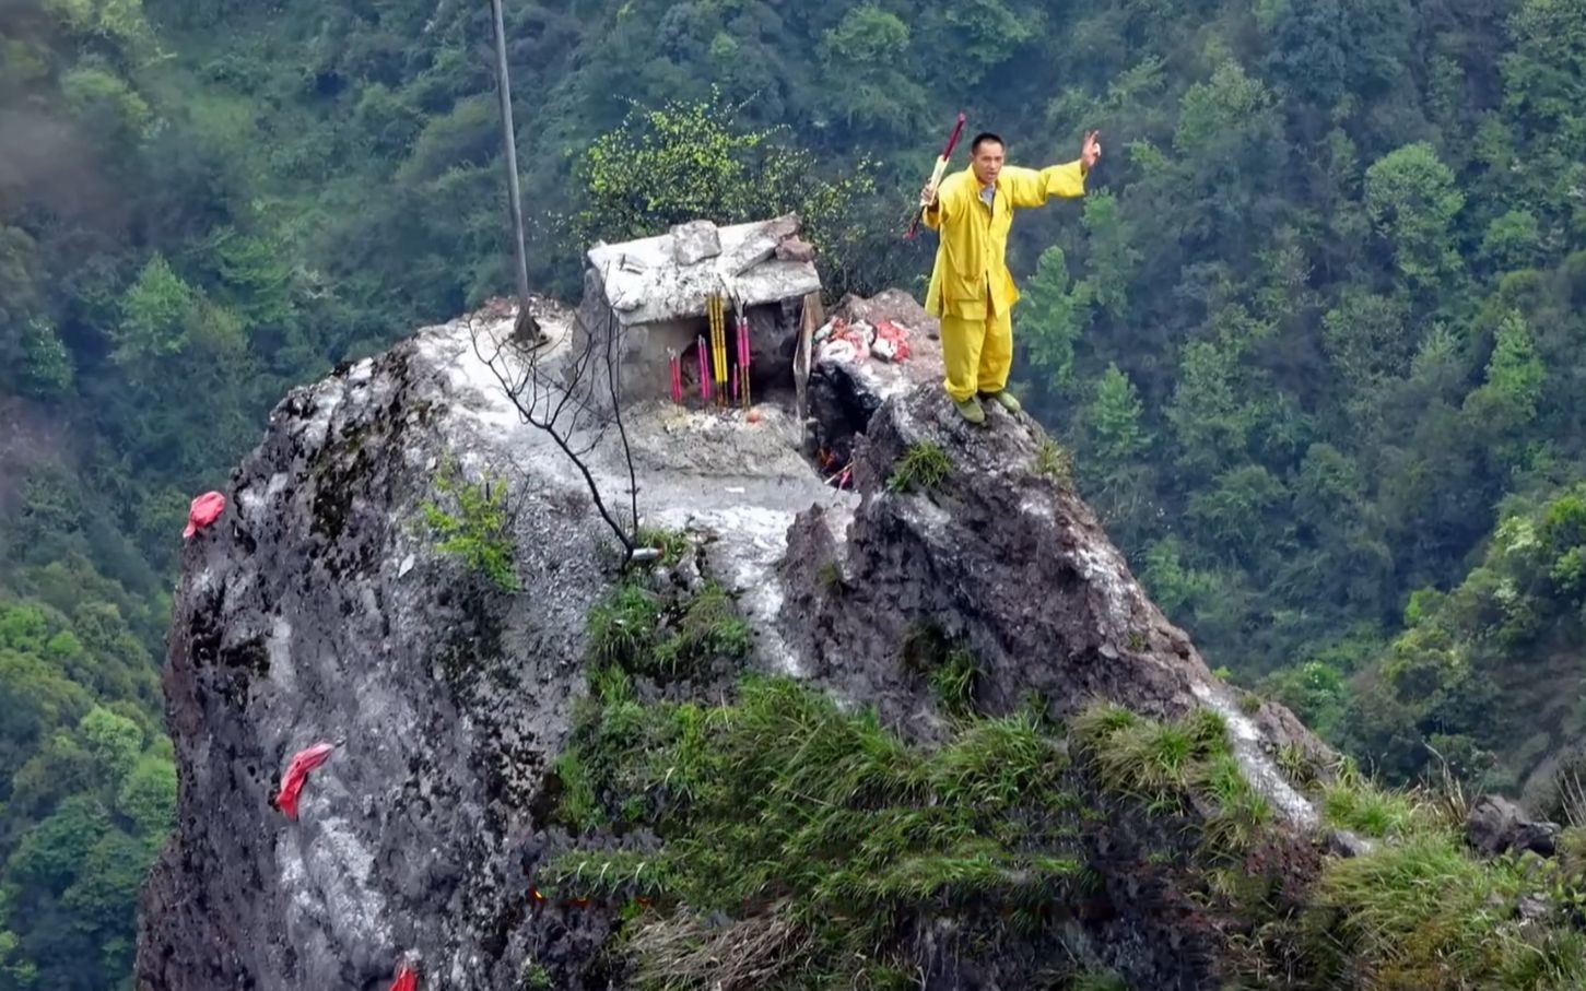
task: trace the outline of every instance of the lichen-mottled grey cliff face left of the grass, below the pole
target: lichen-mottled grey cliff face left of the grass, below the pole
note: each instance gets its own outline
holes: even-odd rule
[[[179,820],[140,988],[384,989],[408,951],[425,986],[508,988],[563,951],[525,866],[606,580],[584,509],[531,463],[533,596],[435,552],[416,522],[442,457],[514,468],[449,415],[462,401],[414,341],[293,392],[187,547],[163,675]],[[279,775],[320,740],[336,750],[289,821]]]

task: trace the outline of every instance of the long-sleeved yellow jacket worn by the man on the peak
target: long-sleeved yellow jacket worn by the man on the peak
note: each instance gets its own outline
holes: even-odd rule
[[[990,209],[972,168],[942,179],[936,206],[925,211],[925,225],[942,235],[925,309],[937,317],[983,320],[990,295],[991,312],[1007,312],[1020,295],[1007,271],[1013,211],[1045,206],[1052,197],[1083,195],[1085,171],[1077,160],[1042,170],[1004,165]]]

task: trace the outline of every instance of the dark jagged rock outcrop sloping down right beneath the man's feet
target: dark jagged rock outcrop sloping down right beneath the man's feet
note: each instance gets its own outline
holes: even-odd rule
[[[910,447],[933,446],[950,468],[931,490],[893,492]],[[902,671],[852,658],[896,658],[909,623],[933,620],[974,652],[986,677],[982,706],[1009,712],[1028,691],[1056,714],[1093,699],[1174,717],[1226,701],[1185,633],[1145,598],[1094,514],[1037,471],[1031,422],[1001,409],[964,423],[940,388],[888,401],[858,442],[861,496],[847,547],[822,512],[791,536],[787,634],[814,669],[855,698],[888,699]],[[817,580],[841,569],[841,591]],[[1235,710],[1237,714],[1237,710]],[[1297,721],[1245,718],[1264,745],[1324,748]]]

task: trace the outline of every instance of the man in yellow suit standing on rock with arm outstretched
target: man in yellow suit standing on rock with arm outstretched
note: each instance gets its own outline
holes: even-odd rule
[[[920,193],[925,225],[940,231],[925,308],[942,319],[947,395],[966,420],[983,423],[979,396],[1018,412],[1007,392],[1010,311],[1018,301],[1006,258],[1013,211],[1052,197],[1083,197],[1085,176],[1101,159],[1101,132],[1085,135],[1078,160],[1042,170],[1004,165],[1002,138],[991,133],[979,135],[969,155],[969,168],[942,179],[940,189],[928,182]]]

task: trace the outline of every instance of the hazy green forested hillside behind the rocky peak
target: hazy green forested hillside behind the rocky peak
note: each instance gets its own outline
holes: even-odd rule
[[[127,972],[187,501],[285,388],[511,285],[487,14],[0,6],[0,989]],[[1015,228],[1015,374],[1151,595],[1396,780],[1518,790],[1580,734],[1580,0],[508,22],[561,295],[588,238],[785,208],[834,292],[920,290],[953,113],[1032,165],[1099,127],[1086,200]]]

